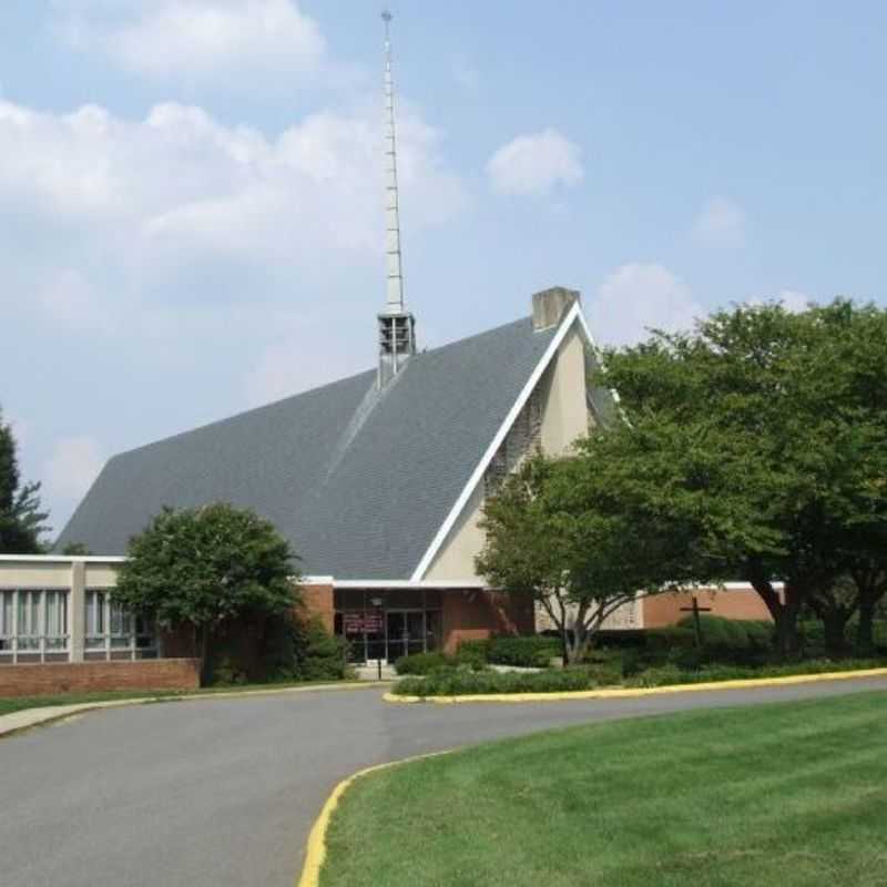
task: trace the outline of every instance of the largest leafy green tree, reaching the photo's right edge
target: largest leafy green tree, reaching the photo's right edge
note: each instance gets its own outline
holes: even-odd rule
[[[885,332],[884,312],[843,299],[798,314],[741,306],[606,356],[629,446],[661,472],[641,491],[650,508],[695,522],[700,578],[752,582],[785,653],[797,646],[803,605],[844,619],[829,594],[878,558]]]

